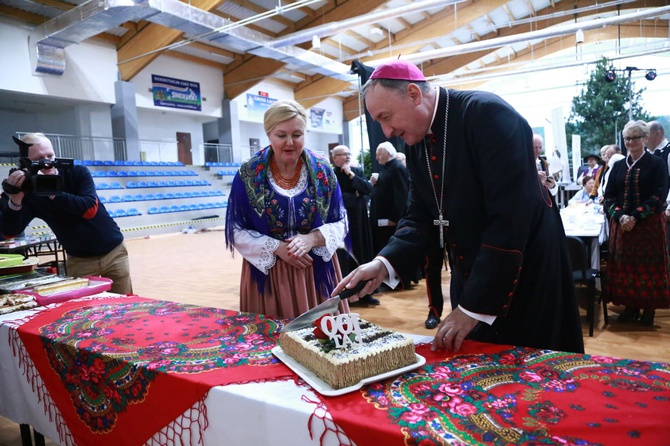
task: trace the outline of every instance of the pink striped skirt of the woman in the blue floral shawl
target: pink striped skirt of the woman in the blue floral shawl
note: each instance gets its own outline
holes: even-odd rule
[[[342,272],[337,256],[334,255],[331,261],[335,280],[339,282],[342,280]],[[270,268],[269,276],[269,286],[265,287],[265,294],[261,295],[251,276],[251,265],[244,260],[240,280],[240,311],[293,319],[325,300],[316,291],[311,267],[299,269],[277,259],[277,263]],[[340,312],[349,313],[348,301],[340,302]]]

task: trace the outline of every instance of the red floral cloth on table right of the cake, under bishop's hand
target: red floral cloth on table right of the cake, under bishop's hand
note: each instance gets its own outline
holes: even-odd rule
[[[670,364],[466,341],[426,365],[322,397],[358,446],[670,444]]]

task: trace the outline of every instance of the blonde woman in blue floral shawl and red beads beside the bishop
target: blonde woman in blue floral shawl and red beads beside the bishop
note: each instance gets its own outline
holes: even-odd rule
[[[226,246],[244,257],[241,311],[294,318],[328,299],[342,279],[334,254],[347,214],[328,161],[303,148],[306,122],[297,102],[273,103],[263,119],[270,145],[233,180]],[[349,311],[346,300],[340,311]]]

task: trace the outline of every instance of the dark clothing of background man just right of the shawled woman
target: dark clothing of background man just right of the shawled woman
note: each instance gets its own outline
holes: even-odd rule
[[[372,249],[372,229],[368,216],[368,202],[372,192],[372,184],[365,178],[360,167],[352,167],[354,178],[345,175],[342,169],[333,169],[342,190],[342,202],[347,209],[349,236],[351,237],[352,253],[343,249],[337,252],[342,275],[347,275],[359,264],[369,262],[374,257]],[[351,256],[353,254],[353,257]]]

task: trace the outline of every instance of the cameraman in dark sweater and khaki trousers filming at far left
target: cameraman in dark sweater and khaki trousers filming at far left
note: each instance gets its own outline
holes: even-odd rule
[[[43,167],[43,160],[55,160],[53,164],[58,165],[51,141],[43,134],[28,133],[16,142],[22,151],[27,149],[20,155],[27,157],[22,159],[22,167],[26,163],[41,163],[38,167]],[[67,253],[68,275],[107,277],[114,281],[112,292],[132,293],[123,234],[98,200],[90,172],[83,166],[58,169],[46,163],[36,175],[27,168],[13,169],[3,182],[3,195],[9,201],[2,209],[2,234],[15,237],[33,218],[41,218]],[[62,193],[43,195],[33,190],[34,184],[39,184],[34,177],[39,175],[60,175]]]

